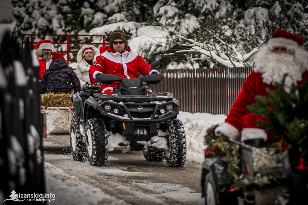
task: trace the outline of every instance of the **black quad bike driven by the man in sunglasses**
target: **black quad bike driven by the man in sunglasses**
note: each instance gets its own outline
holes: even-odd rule
[[[159,65],[160,62],[155,61],[152,68]],[[154,93],[144,85],[161,82],[163,75],[129,79],[100,74],[96,80],[104,84],[120,81],[120,85],[114,94],[83,89],[73,94],[75,113],[71,120],[70,141],[74,160],[87,159],[92,166],[106,166],[108,151],[113,150],[108,141],[116,141],[122,150],[143,150],[148,161],[165,159],[170,167],[184,166],[184,126],[176,119],[179,103],[172,94]]]

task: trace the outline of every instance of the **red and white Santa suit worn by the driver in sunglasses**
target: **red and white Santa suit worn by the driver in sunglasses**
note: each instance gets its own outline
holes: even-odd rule
[[[95,83],[93,78],[95,71],[103,74],[114,74],[121,78],[138,78],[139,72],[142,75],[147,75],[151,70],[151,66],[143,60],[137,53],[131,51],[128,46],[124,52],[116,52],[109,46],[107,50],[100,56],[97,56],[96,61],[90,67],[90,81]],[[111,84],[102,84],[101,92],[107,92],[117,88],[120,82],[115,81]]]

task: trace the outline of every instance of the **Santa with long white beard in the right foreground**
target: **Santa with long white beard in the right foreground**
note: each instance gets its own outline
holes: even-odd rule
[[[264,129],[257,127],[257,120],[267,120],[253,115],[247,105],[255,103],[255,96],[268,97],[265,89],[276,90],[274,86],[285,79],[284,89],[290,92],[293,84],[302,85],[308,81],[308,52],[299,47],[303,38],[285,30],[277,30],[255,57],[253,71],[246,78],[224,123],[215,129],[215,134],[225,135],[246,144],[262,147],[267,140],[275,141]]]

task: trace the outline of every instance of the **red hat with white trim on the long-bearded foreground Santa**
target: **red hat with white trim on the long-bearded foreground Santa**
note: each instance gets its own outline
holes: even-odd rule
[[[304,39],[298,35],[290,34],[285,30],[278,29],[268,42],[269,46],[283,47],[286,49],[296,49],[301,45]]]

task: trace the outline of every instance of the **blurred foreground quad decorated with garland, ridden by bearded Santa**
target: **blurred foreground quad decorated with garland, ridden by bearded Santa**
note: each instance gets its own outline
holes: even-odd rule
[[[225,136],[210,140],[215,145],[205,146],[201,172],[206,205],[238,204],[238,197],[244,205],[274,204],[288,190],[279,148],[253,147]]]

